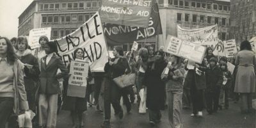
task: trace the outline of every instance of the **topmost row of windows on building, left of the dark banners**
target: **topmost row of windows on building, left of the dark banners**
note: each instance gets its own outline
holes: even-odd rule
[[[99,8],[100,1],[80,1],[72,3],[41,3],[39,11],[43,10],[83,10],[86,8]]]

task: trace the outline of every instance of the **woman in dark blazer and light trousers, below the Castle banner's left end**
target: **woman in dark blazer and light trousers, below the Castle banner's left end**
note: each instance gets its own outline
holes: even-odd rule
[[[47,42],[44,45],[47,54],[41,59],[40,89],[39,89],[39,125],[40,127],[56,127],[58,93],[60,86],[58,79],[68,75],[68,69],[58,54],[57,44]],[[61,73],[57,74],[60,68]],[[57,74],[57,75],[56,75]]]

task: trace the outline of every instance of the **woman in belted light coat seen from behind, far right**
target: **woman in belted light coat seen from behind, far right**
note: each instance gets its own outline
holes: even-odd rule
[[[235,65],[237,68],[234,92],[240,93],[241,113],[249,113],[252,108],[252,93],[255,92],[255,63],[250,42],[245,40],[241,43],[240,51],[236,55]]]

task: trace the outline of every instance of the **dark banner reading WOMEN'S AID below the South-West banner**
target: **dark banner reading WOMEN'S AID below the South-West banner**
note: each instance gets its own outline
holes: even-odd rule
[[[103,27],[109,45],[125,44],[162,34],[157,3],[154,3],[151,8],[148,28],[122,26],[118,24],[103,24]]]

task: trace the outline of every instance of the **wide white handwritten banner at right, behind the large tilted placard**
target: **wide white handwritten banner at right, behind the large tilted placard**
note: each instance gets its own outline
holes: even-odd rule
[[[199,29],[182,29],[177,25],[177,37],[191,43],[211,47],[213,54],[225,56],[223,42],[218,38],[217,25]]]

